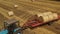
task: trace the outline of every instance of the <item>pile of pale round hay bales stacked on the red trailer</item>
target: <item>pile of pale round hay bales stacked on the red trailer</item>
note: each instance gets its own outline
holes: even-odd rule
[[[44,12],[37,14],[39,20],[42,20],[42,22],[49,22],[52,20],[58,19],[58,14],[57,13],[52,13],[52,12]]]

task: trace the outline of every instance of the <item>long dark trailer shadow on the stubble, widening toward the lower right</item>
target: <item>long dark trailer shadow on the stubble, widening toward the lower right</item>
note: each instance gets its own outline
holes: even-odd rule
[[[55,23],[55,22],[57,22],[57,21],[51,21],[49,23],[46,23],[46,24],[43,24],[43,25],[39,25],[39,26],[31,28],[31,29],[36,29],[38,27],[39,28],[42,27],[42,28],[47,29],[49,31],[52,31],[52,32],[54,32],[56,34],[60,34],[60,24]]]

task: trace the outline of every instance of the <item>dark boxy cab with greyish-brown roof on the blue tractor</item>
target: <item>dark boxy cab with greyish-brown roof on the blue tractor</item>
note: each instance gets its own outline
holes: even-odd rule
[[[4,27],[5,27],[5,29],[8,29],[8,28],[10,28],[11,27],[11,29],[13,28],[13,29],[16,29],[16,28],[18,28],[20,25],[19,25],[19,21],[18,20],[16,20],[16,19],[9,19],[9,20],[6,20],[5,22],[4,22]]]

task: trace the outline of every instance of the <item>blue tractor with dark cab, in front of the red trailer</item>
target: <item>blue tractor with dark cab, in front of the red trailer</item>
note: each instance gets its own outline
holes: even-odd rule
[[[4,22],[4,30],[0,34],[21,34],[19,21],[16,19],[9,19]]]

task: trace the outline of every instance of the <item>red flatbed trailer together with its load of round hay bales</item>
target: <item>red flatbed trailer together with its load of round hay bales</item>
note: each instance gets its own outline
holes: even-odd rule
[[[36,14],[34,15],[35,19],[32,20],[28,20],[23,27],[37,27],[39,25],[43,25],[43,24],[51,24],[50,22],[55,21],[55,20],[59,20],[60,19],[60,15],[58,15],[57,13],[52,13],[52,12],[44,12],[44,13],[40,13],[40,14]]]

